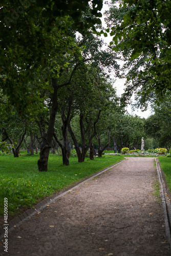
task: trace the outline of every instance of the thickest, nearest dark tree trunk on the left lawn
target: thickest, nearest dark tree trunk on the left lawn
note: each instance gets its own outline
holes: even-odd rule
[[[53,138],[54,132],[54,124],[55,124],[55,117],[57,111],[57,81],[56,79],[52,79],[52,87],[54,89],[52,94],[52,109],[49,118],[49,125],[46,137],[43,137],[44,146],[40,148],[40,158],[37,161],[38,170],[39,172],[47,172],[48,170],[48,158],[49,158],[49,151],[51,148],[51,142]]]

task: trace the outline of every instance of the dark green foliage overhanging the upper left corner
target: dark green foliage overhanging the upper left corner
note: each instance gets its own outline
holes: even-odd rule
[[[19,3],[20,2],[20,3]],[[2,1],[0,86],[8,105],[25,117],[44,109],[41,89],[68,67],[66,54],[81,52],[76,31],[87,34],[101,24],[102,0]]]

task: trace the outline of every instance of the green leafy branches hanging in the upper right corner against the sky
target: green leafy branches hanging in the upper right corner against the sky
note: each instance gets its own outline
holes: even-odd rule
[[[114,50],[122,54],[128,70],[124,94],[127,101],[133,92],[140,95],[142,108],[146,100],[162,100],[170,85],[170,1],[112,1],[108,13]],[[116,4],[120,4],[119,7]],[[113,43],[111,42],[111,44]]]

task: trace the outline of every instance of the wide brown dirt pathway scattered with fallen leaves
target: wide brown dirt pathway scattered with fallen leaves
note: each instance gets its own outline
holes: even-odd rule
[[[154,158],[133,157],[9,232],[10,256],[169,255]]]

